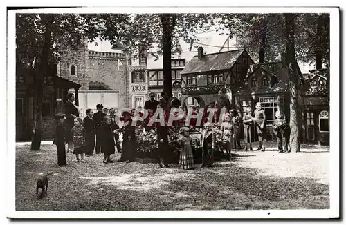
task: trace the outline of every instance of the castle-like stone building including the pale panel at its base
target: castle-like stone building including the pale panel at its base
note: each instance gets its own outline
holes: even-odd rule
[[[97,52],[87,45],[63,52],[57,65],[57,75],[78,84],[80,117],[85,110],[96,110],[97,104],[107,108],[129,107],[129,80],[126,56],[119,52]]]

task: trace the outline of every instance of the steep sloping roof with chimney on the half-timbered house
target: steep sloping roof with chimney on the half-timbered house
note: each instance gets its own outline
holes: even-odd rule
[[[229,70],[244,51],[245,49],[242,48],[227,52],[217,52],[209,55],[203,55],[201,59],[194,57],[188,62],[183,71],[181,71],[181,74]]]

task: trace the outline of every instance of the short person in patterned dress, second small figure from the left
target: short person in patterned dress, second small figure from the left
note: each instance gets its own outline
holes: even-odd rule
[[[71,130],[73,137],[73,154],[75,154],[77,162],[84,162],[85,153],[85,129],[82,126],[83,121],[80,117],[75,118],[75,126]]]

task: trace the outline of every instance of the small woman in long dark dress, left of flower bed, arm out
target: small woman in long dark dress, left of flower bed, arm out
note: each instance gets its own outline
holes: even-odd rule
[[[116,133],[122,132],[122,149],[121,157],[119,161],[126,161],[127,163],[134,161],[135,155],[135,126],[132,125],[131,113],[122,113],[122,120],[124,121],[124,126],[120,130],[116,130]]]

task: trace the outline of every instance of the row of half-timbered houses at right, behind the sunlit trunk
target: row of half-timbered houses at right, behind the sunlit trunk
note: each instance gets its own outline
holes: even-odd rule
[[[328,72],[304,76],[298,63],[295,68],[300,77],[298,111],[302,118],[302,142],[329,144],[329,95],[323,89],[328,87]],[[288,71],[285,59],[255,64],[245,49],[204,54],[203,48],[199,48],[198,57],[181,72],[182,102],[194,97],[202,106],[212,104],[219,90],[224,90],[232,106],[241,113],[249,106],[254,110],[260,102],[266,113],[267,137],[275,139],[272,128],[275,112],[282,110],[289,121]]]

